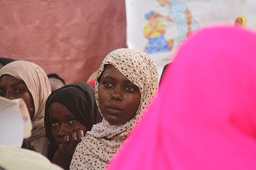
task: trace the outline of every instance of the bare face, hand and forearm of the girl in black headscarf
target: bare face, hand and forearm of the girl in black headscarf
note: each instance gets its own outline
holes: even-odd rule
[[[69,169],[76,146],[82,141],[87,129],[60,103],[53,103],[49,107],[49,121],[54,144],[58,147],[52,162]]]

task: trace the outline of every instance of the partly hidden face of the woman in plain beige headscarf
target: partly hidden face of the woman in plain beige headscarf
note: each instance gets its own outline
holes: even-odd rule
[[[0,96],[7,99],[22,98],[27,105],[29,116],[32,119],[35,115],[33,98],[22,80],[14,78],[11,75],[3,75],[0,78]]]

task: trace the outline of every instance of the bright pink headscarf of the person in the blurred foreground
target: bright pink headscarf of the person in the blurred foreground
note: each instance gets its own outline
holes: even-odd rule
[[[255,44],[231,27],[190,37],[109,169],[256,169]]]

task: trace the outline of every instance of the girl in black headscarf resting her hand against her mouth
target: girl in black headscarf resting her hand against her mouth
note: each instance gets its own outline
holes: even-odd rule
[[[102,121],[93,88],[75,83],[52,92],[46,101],[44,124],[50,141],[48,157],[69,169],[76,146],[93,124]]]

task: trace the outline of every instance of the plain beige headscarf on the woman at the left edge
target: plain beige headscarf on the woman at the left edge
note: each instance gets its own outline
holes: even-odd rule
[[[0,70],[0,77],[4,74],[12,75],[17,79],[24,81],[33,98],[35,115],[31,119],[33,130],[32,135],[28,140],[32,141],[34,144],[33,147],[36,149],[38,148],[35,146],[37,144],[33,141],[45,137],[44,107],[47,97],[51,94],[49,79],[40,66],[27,61],[15,61],[5,65]],[[39,145],[45,145],[45,142],[41,141],[40,143],[43,144]]]

